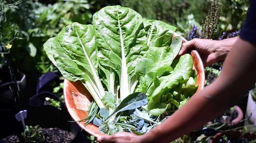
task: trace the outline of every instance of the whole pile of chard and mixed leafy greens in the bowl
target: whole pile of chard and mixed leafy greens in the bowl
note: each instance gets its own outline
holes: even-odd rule
[[[182,39],[175,27],[143,20],[130,8],[107,6],[93,25],[73,23],[44,49],[63,76],[91,93],[87,123],[100,132],[145,133],[197,90],[189,54],[174,60]]]

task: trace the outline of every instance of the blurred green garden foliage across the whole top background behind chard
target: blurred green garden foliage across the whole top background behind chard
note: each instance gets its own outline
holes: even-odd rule
[[[250,0],[219,0],[220,29],[241,28]],[[0,69],[8,60],[14,69],[36,85],[38,77],[56,68],[43,50],[43,44],[73,22],[91,24],[92,15],[108,5],[121,5],[137,11],[145,19],[162,20],[178,28],[186,37],[193,25],[200,29],[211,5],[210,0],[1,0]],[[6,50],[6,45],[12,48]]]

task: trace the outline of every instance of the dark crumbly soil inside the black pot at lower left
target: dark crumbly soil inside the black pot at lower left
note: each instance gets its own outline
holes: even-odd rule
[[[42,132],[45,136],[45,143],[69,143],[75,138],[72,132],[60,128],[42,128]],[[0,143],[24,143],[25,140],[19,135],[9,135],[3,139],[0,139]]]

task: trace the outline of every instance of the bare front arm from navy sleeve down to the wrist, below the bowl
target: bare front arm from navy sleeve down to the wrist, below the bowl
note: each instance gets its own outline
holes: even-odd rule
[[[241,100],[256,82],[256,46],[238,39],[228,54],[220,77],[178,109],[169,119],[140,138],[170,142],[204,125]]]

